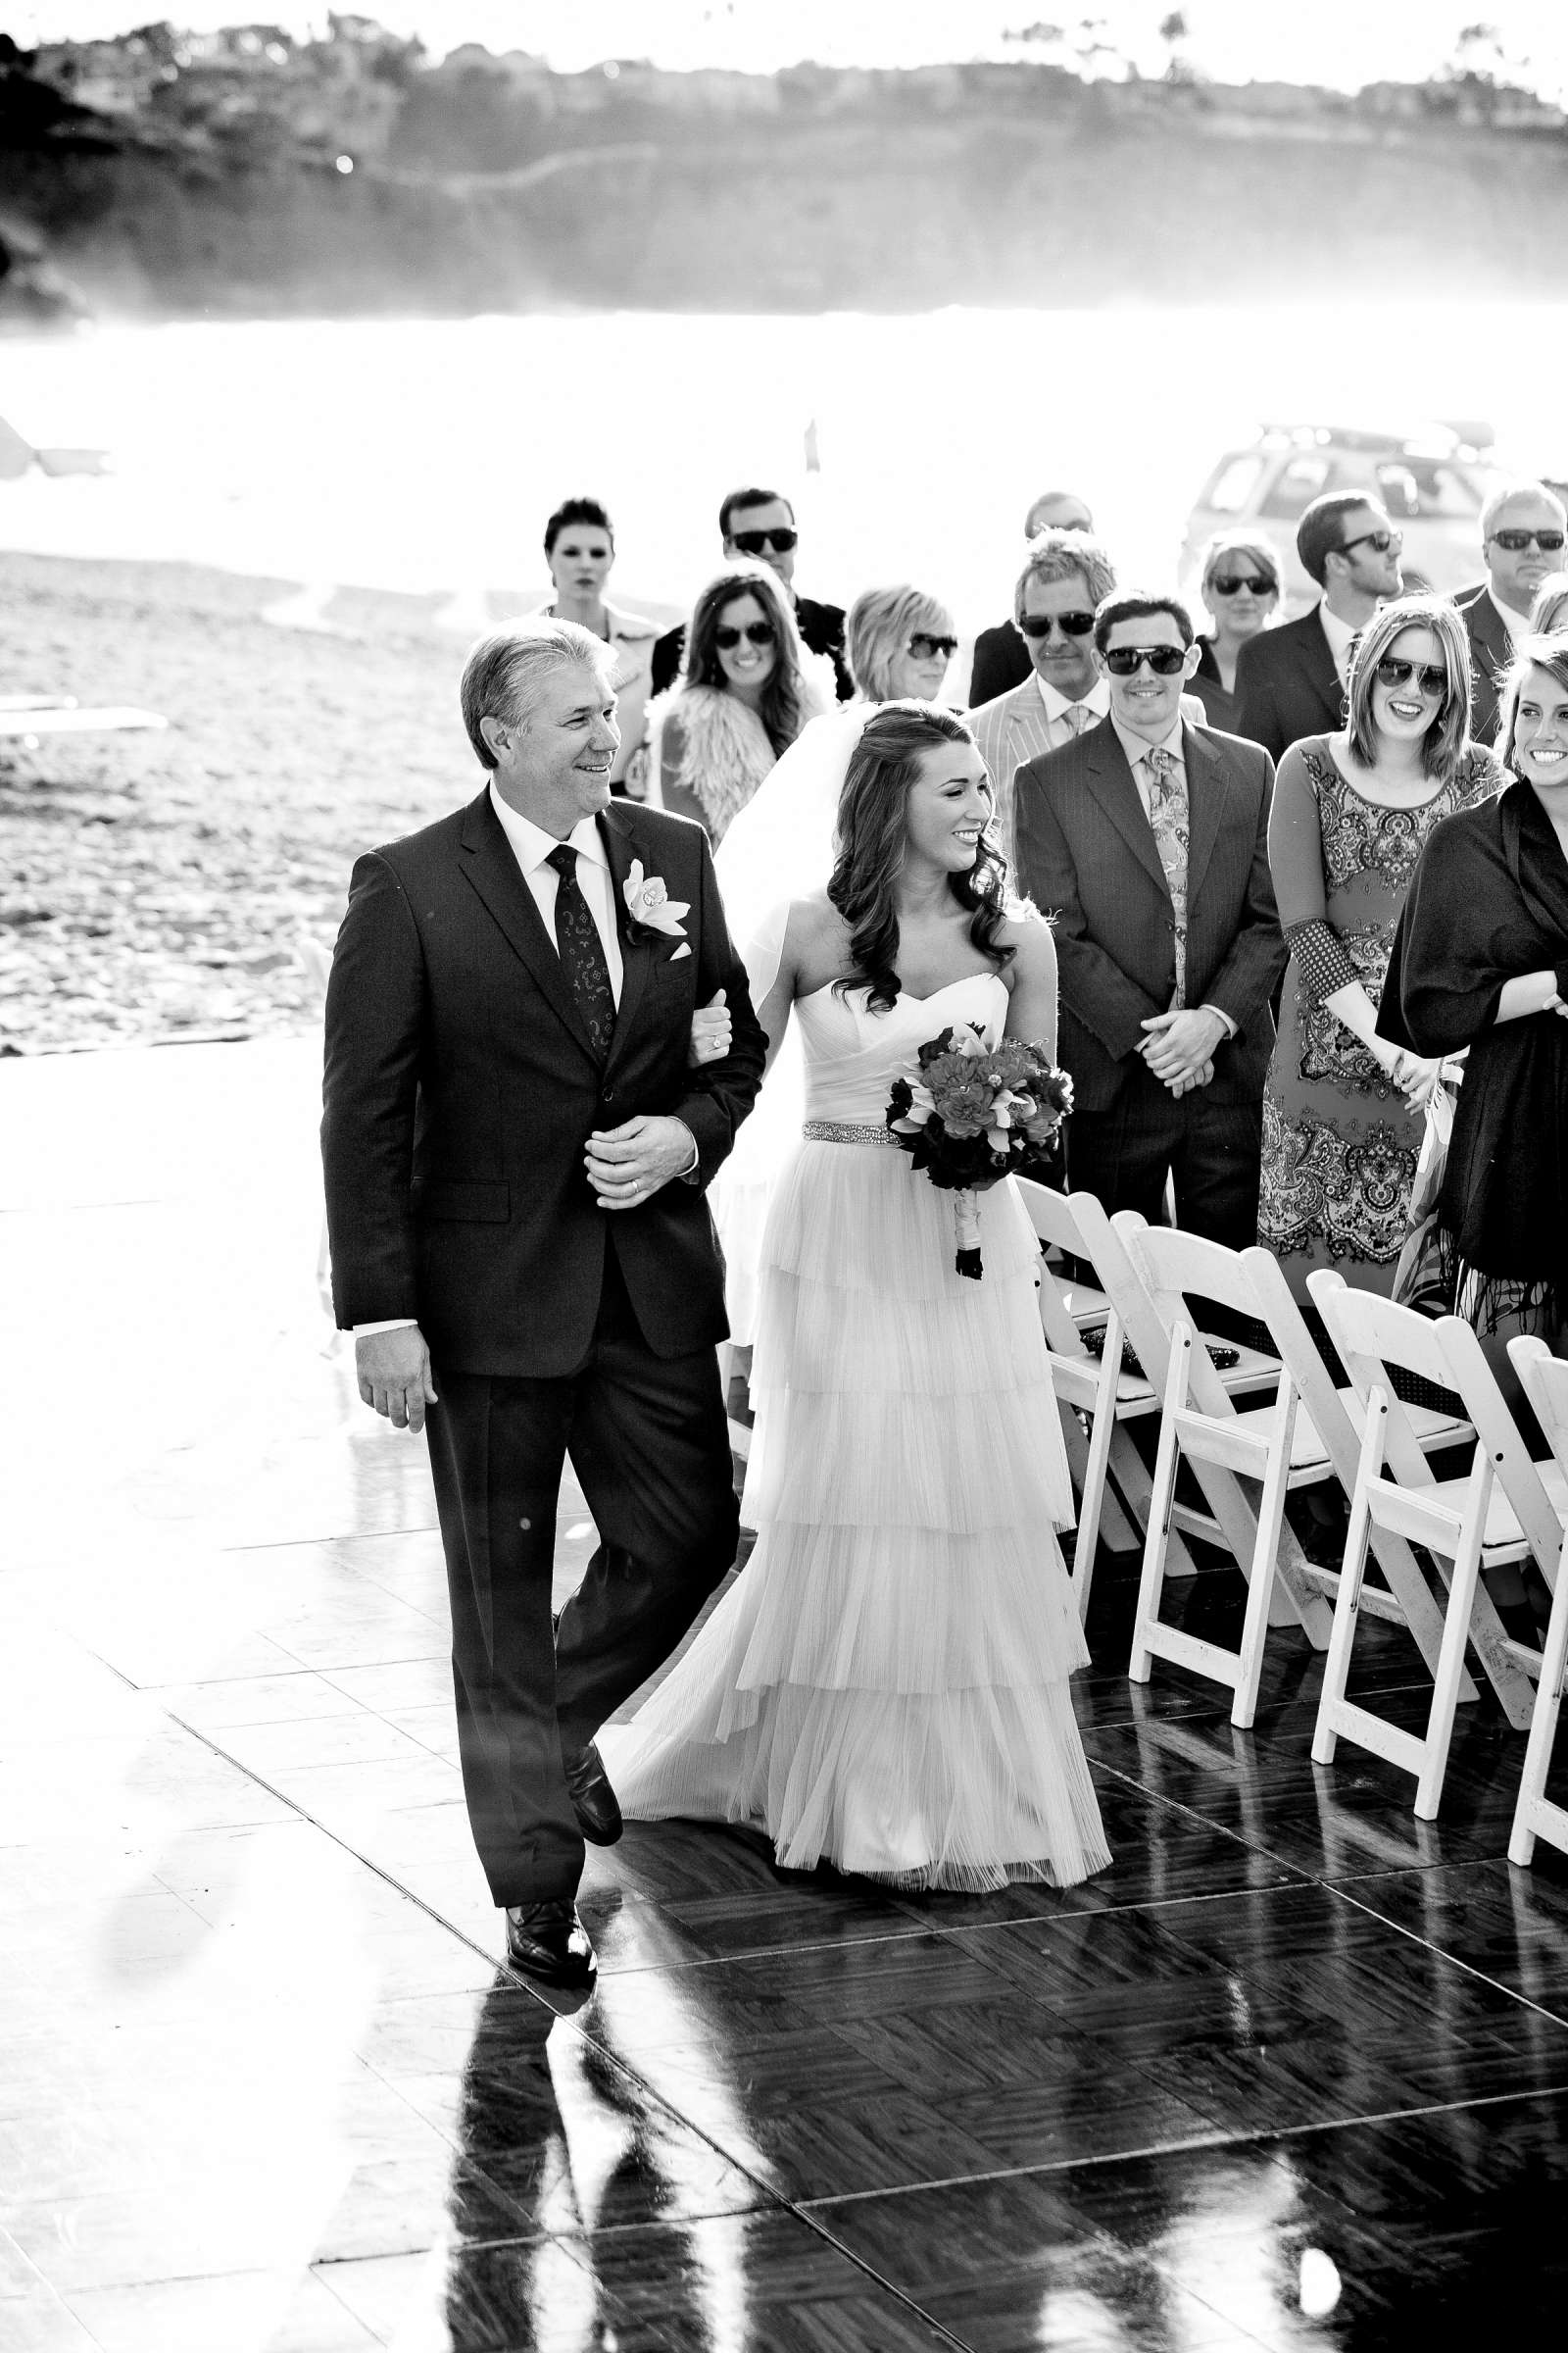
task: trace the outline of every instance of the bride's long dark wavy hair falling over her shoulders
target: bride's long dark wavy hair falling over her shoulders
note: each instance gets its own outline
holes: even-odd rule
[[[910,786],[919,781],[922,753],[936,744],[969,744],[973,736],[961,718],[936,704],[884,704],[865,722],[856,744],[844,791],[839,793],[839,849],[827,882],[827,896],[849,925],[853,984],[870,984],[867,1002],[891,1007],[898,1000],[898,908],[893,885],[910,852]],[[1016,948],[1001,946],[1006,861],[990,833],[969,873],[947,878],[961,908],[969,908],[969,936],[997,972],[1013,962]]]

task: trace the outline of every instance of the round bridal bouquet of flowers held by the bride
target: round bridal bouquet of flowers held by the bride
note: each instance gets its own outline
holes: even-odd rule
[[[987,1045],[973,1021],[926,1040],[917,1068],[893,1080],[889,1134],[931,1184],[954,1195],[961,1275],[980,1280],[978,1193],[1051,1151],[1072,1111],[1072,1080],[1037,1045]]]

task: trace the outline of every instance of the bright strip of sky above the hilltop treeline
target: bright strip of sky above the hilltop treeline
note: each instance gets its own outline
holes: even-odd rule
[[[146,24],[150,0],[12,0],[5,24],[21,42],[96,40]],[[292,33],[324,31],[327,7],[289,0],[167,0],[174,24],[212,31],[268,21]],[[651,56],[661,66],[731,66],[766,73],[818,59],[837,66],[917,66],[966,56],[1063,56],[1006,33],[1063,24],[1070,45],[1095,38],[1161,73],[1171,49],[1159,38],[1166,0],[1110,0],[1098,12],[1053,9],[1046,0],[371,0],[362,14],[393,33],[418,33],[435,56],[461,42],[531,49],[574,71],[609,56]],[[1509,78],[1544,94],[1568,89],[1568,9],[1561,0],[1314,0],[1309,12],[1258,0],[1190,0],[1182,56],[1213,80],[1324,82],[1354,89],[1375,80],[1420,80],[1453,52],[1462,26],[1497,28]],[[1095,33],[1093,28],[1100,28]],[[1495,61],[1493,61],[1495,64]],[[1105,66],[1105,59],[1100,59]],[[1117,68],[1119,71],[1119,68]]]

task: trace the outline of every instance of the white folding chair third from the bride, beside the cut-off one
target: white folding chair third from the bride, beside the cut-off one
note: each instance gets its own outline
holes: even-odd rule
[[[1458,1315],[1439,1320],[1415,1315],[1375,1292],[1349,1289],[1345,1278],[1328,1268],[1307,1275],[1307,1289],[1366,1412],[1312,1758],[1316,1765],[1331,1765],[1340,1739],[1371,1748],[1373,1755],[1415,1777],[1415,1814],[1434,1821],[1443,1795],[1467,1640],[1474,1640],[1509,1722],[1523,1727],[1530,1718],[1528,1675],[1540,1668],[1540,1659],[1523,1645],[1509,1642],[1481,1584],[1481,1569],[1533,1555],[1544,1574],[1554,1574],[1563,1527],[1547,1482],[1556,1485],[1563,1501],[1568,1487],[1554,1466],[1542,1466],[1547,1471],[1542,1480],[1542,1471],[1530,1461],[1481,1341],[1467,1322]],[[1465,1419],[1476,1431],[1467,1478],[1434,1478],[1410,1407],[1396,1395],[1392,1367],[1458,1395]],[[1448,1586],[1422,1737],[1345,1697],[1373,1529],[1389,1529],[1408,1544],[1425,1546]]]

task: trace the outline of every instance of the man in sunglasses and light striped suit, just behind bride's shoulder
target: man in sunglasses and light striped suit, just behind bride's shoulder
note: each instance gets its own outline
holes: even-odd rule
[[[1117,586],[1110,555],[1088,532],[1039,532],[1013,588],[1013,621],[1030,647],[1020,687],[969,713],[997,795],[997,838],[1013,852],[1013,776],[1041,753],[1072,744],[1110,711],[1095,666],[1093,616]]]

